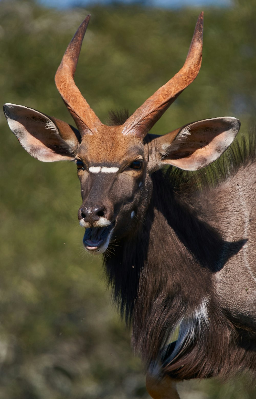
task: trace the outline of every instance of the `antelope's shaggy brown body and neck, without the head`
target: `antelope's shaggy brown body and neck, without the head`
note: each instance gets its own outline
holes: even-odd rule
[[[197,188],[173,170],[152,174],[152,199],[136,236],[104,255],[134,347],[176,379],[256,367],[254,150],[216,187],[199,176]],[[176,348],[168,346],[178,325]]]

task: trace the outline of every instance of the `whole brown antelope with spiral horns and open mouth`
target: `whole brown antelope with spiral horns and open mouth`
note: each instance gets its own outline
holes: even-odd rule
[[[103,256],[152,398],[179,398],[176,382],[183,379],[255,372],[255,140],[250,146],[235,142],[223,161],[226,172],[216,172],[210,183],[205,173],[189,171],[223,154],[238,133],[238,119],[217,117],[163,136],[149,133],[199,73],[203,12],[180,71],[131,116],[112,115],[110,126],[74,82],[89,19],[55,75],[77,127],[6,103],[10,129],[40,161],[76,162],[83,245]]]

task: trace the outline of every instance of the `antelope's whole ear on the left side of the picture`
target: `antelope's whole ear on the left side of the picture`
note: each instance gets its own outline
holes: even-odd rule
[[[43,162],[73,160],[79,131],[62,120],[23,105],[4,104],[4,115],[22,147]]]

